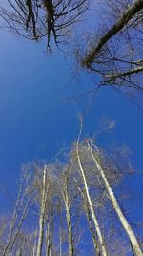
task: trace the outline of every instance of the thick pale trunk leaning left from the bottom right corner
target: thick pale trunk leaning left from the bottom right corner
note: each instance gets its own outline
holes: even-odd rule
[[[133,229],[131,227],[131,225],[128,223],[128,221],[126,220],[115,196],[114,196],[114,193],[112,191],[112,187],[110,186],[110,183],[104,173],[104,170],[102,169],[101,165],[99,164],[98,160],[96,159],[96,157],[94,156],[94,154],[92,153],[92,149],[90,149],[91,151],[91,155],[92,155],[92,160],[93,162],[95,163],[97,169],[99,170],[99,173],[104,181],[104,184],[105,184],[105,187],[107,189],[107,192],[108,192],[108,195],[110,197],[110,200],[112,202],[112,206],[116,212],[116,214],[118,215],[118,218],[119,220],[121,221],[121,224],[123,225],[129,239],[130,239],[130,242],[132,244],[132,248],[133,248],[133,254],[134,256],[142,256],[143,253],[142,253],[142,250],[137,242],[137,239],[133,233]]]

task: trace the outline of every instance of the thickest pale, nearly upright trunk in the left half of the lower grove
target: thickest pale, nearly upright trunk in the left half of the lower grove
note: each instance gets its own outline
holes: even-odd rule
[[[36,256],[42,255],[46,194],[47,194],[47,184],[46,184],[46,165],[45,165],[44,170],[43,170],[42,198],[41,198],[41,209],[40,209],[40,217],[39,217],[39,234],[38,234],[38,244],[37,244]]]

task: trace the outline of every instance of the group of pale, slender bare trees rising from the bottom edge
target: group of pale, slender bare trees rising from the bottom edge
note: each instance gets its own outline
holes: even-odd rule
[[[0,255],[143,255],[118,192],[131,167],[117,158],[79,136],[60,159],[23,165]]]

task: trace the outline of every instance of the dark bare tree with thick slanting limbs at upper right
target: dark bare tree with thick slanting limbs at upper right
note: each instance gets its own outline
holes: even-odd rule
[[[103,20],[112,19],[112,24],[109,26],[109,22],[103,21],[96,35],[87,38],[81,53],[77,49],[78,58],[84,68],[98,76],[95,89],[110,85],[141,106],[143,1],[107,0],[104,3],[107,5]]]

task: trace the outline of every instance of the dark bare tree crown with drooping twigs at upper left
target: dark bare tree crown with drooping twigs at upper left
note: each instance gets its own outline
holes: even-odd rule
[[[0,5],[0,16],[7,26],[28,39],[47,39],[55,44],[69,33],[78,17],[87,10],[89,0],[6,0]]]

